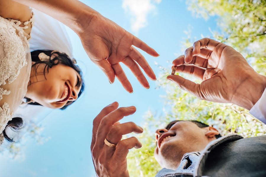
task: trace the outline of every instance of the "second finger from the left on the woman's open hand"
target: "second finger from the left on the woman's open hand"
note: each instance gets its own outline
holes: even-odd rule
[[[123,71],[121,65],[119,63],[116,63],[112,65],[112,68],[115,71],[115,76],[120,81],[124,89],[128,91],[129,93],[132,93],[133,92],[132,85],[129,82],[127,76],[125,75],[125,72]]]

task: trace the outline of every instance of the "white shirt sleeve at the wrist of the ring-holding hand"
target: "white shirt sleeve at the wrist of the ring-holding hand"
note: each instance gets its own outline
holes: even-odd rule
[[[249,114],[266,124],[266,89],[257,103],[250,109]]]

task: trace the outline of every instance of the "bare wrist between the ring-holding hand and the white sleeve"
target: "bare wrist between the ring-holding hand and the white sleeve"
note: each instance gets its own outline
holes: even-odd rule
[[[265,88],[266,77],[254,72],[238,87],[232,103],[250,110],[260,99]]]

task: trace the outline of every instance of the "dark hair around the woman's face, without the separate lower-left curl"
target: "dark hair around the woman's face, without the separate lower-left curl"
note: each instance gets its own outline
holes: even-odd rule
[[[41,61],[39,59],[39,54],[40,53],[45,53],[46,55],[48,55],[50,58],[49,60],[44,60],[44,61]],[[31,67],[35,67],[36,70],[38,68],[38,64],[41,64],[41,63],[44,63],[46,64],[44,69],[43,69],[43,74],[44,74],[44,77],[45,77],[45,72],[49,72],[49,68],[52,68],[54,65],[57,65],[59,63],[62,63],[63,65],[66,65],[66,66],[70,66],[71,68],[73,68],[75,71],[77,71],[77,73],[80,75],[80,78],[81,78],[81,89],[80,89],[80,92],[78,93],[78,98],[79,96],[81,95],[81,93],[83,92],[84,90],[84,82],[83,82],[83,78],[82,78],[82,71],[81,69],[78,67],[78,65],[76,65],[74,63],[73,60],[71,60],[69,58],[69,56],[65,53],[60,53],[58,51],[52,51],[52,50],[35,50],[33,52],[30,53],[31,54],[31,60],[33,62],[36,62],[34,63]],[[54,56],[54,58],[51,59],[51,56]],[[26,101],[30,101],[30,99],[26,98]],[[61,110],[64,110],[66,109],[70,104],[72,104],[73,102],[75,101],[68,101],[67,104],[61,108]],[[33,105],[41,105],[39,103],[29,103],[29,104],[33,104]]]

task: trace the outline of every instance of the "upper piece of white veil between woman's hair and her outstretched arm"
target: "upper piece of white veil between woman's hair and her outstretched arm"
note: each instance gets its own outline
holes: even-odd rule
[[[33,13],[35,22],[29,41],[30,51],[58,50],[73,58],[72,45],[65,25],[36,9],[33,9]]]

